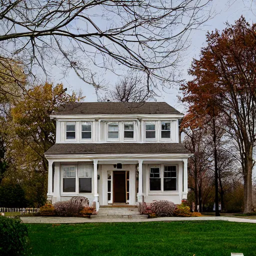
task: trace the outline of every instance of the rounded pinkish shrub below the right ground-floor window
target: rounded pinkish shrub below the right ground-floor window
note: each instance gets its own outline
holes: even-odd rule
[[[152,202],[150,208],[158,217],[170,217],[173,215],[175,204],[171,201],[159,200]]]

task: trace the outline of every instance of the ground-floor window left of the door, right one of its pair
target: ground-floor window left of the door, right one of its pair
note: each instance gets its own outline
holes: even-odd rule
[[[92,164],[78,165],[79,193],[91,193]]]

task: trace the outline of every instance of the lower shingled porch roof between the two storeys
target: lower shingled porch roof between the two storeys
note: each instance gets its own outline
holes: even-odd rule
[[[189,153],[183,143],[66,143],[54,144],[45,154]]]

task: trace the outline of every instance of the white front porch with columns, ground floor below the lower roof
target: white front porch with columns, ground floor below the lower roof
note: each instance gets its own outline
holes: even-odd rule
[[[180,203],[187,196],[188,155],[154,158],[54,155],[47,158],[47,196],[52,203],[81,195],[86,196],[91,205],[95,203],[98,210],[100,205],[136,205],[141,201]]]

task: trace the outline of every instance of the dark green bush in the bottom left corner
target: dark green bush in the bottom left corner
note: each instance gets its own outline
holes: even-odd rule
[[[20,219],[0,216],[0,255],[27,255],[27,227]]]

